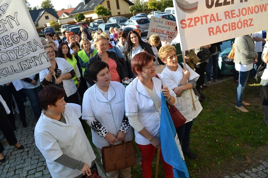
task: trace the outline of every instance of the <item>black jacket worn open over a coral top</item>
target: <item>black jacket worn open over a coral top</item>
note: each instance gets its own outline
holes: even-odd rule
[[[127,76],[126,76],[126,72],[124,70],[124,67],[121,65],[119,60],[116,58],[116,54],[112,51],[106,51],[106,52],[108,53],[108,57],[115,61],[116,65],[117,65],[117,72],[118,72],[118,75],[120,76],[120,80],[123,80],[124,78],[126,78]],[[101,57],[100,57],[98,52],[96,55],[94,55],[92,58],[89,59],[86,70],[84,72],[84,78],[91,86],[94,85],[95,82],[88,75],[88,69],[89,69],[90,65],[92,65],[93,62],[96,62],[96,61],[101,61]]]

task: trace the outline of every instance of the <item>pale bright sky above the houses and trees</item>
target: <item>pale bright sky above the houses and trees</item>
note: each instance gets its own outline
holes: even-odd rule
[[[27,0],[28,3],[30,3],[31,7],[39,6],[41,5],[43,0]],[[72,4],[73,8],[75,8],[79,3],[81,3],[81,0],[51,0],[52,4],[54,5],[54,8],[56,10],[61,10],[62,8],[67,9],[68,4]]]

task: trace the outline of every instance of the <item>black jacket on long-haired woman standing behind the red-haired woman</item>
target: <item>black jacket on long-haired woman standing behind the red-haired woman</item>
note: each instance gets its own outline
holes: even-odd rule
[[[140,43],[140,45],[142,47],[142,50],[145,50],[146,52],[148,52],[151,55],[155,56],[150,44],[144,42],[144,43]],[[132,48],[131,48],[130,51],[126,51],[126,48],[125,48],[124,62],[125,62],[126,76],[128,78],[133,78],[133,73],[132,73],[132,70],[131,70],[131,53],[132,53]],[[154,61],[155,61],[155,59],[154,59]]]

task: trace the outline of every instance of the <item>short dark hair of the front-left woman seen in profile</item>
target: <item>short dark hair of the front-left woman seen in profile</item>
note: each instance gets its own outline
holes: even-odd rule
[[[63,98],[64,96],[65,92],[63,89],[50,84],[39,92],[38,94],[39,106],[42,109],[47,110],[48,105],[55,106],[56,102],[59,99]]]

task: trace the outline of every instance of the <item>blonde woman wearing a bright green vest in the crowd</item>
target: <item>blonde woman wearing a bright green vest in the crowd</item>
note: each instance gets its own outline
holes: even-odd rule
[[[91,43],[87,38],[82,38],[80,41],[80,45],[82,50],[78,52],[78,56],[79,56],[79,63],[84,75],[85,69],[88,64],[88,60],[92,58],[94,55],[96,55],[97,50],[91,49]]]

